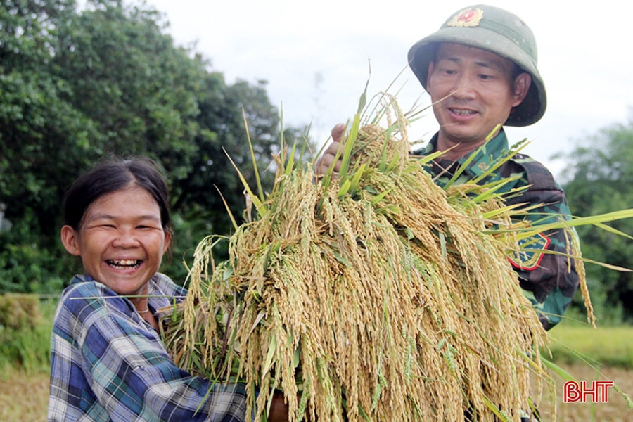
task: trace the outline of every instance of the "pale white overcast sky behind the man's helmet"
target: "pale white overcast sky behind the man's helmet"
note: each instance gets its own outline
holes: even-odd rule
[[[430,105],[407,68],[409,48],[450,16],[472,6],[464,1],[404,0],[148,0],[165,13],[165,30],[179,46],[202,53],[228,84],[267,81],[271,103],[286,126],[312,124],[319,144],[331,127],[357,110],[368,94],[392,84],[399,106]],[[523,153],[564,179],[565,162],[554,155],[573,150],[599,129],[633,117],[633,2],[488,1],[511,11],[535,33],[547,110],[529,127],[506,128],[510,143],[528,139]],[[411,124],[409,138],[428,140],[437,131],[433,113]],[[596,148],[601,143],[596,142]]]

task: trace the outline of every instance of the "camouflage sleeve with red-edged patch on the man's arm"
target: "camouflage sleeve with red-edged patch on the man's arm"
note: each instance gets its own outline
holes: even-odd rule
[[[526,219],[532,224],[545,224],[570,219],[563,189],[551,173],[538,162],[522,163],[530,187],[509,204],[539,205]],[[578,287],[579,277],[571,253],[573,229],[544,231],[523,241],[525,249],[551,250],[558,253],[523,252],[511,258],[519,283],[537,312],[544,328],[549,330],[561,321]],[[563,254],[563,255],[558,255]]]

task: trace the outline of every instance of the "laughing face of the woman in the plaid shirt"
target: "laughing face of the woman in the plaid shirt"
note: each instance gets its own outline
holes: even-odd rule
[[[62,243],[82,257],[84,271],[119,295],[146,295],[171,236],[160,207],[138,186],[107,193],[86,210],[79,231],[63,226]]]

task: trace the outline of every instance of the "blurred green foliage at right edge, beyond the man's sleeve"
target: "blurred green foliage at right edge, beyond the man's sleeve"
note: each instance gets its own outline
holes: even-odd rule
[[[568,155],[564,174],[565,193],[573,215],[585,217],[632,207],[633,203],[633,115],[626,124],[613,124],[590,136]],[[633,220],[608,224],[633,234]],[[596,226],[577,228],[585,257],[633,269],[633,241]],[[587,264],[589,292],[599,318],[613,320],[618,314],[633,322],[633,273]]]

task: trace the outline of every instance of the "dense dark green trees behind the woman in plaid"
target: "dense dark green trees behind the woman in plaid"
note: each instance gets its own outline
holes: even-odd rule
[[[250,163],[244,110],[267,168],[279,150],[279,111],[265,82],[226,84],[205,58],[174,46],[165,27],[158,11],[121,0],[91,0],[80,13],[73,0],[0,2],[0,202],[13,224],[0,232],[0,292],[70,280],[58,241],[63,195],[110,155],[160,162],[173,212],[200,233],[181,236],[182,247],[229,233],[214,185],[242,214],[243,188],[224,150]],[[241,168],[249,182],[251,167]],[[264,189],[272,177],[264,174]],[[180,259],[172,265],[183,274]]]

